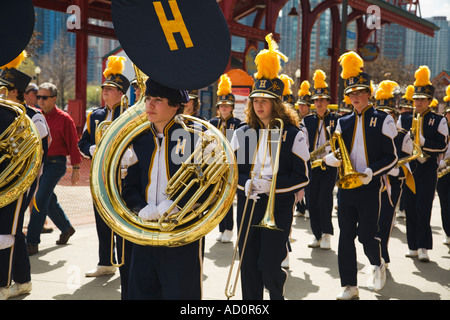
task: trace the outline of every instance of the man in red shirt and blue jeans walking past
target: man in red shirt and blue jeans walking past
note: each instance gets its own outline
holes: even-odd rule
[[[51,83],[43,83],[39,86],[37,94],[39,106],[45,115],[50,128],[51,143],[48,148],[47,158],[44,160],[43,173],[39,179],[39,187],[36,193],[36,208],[33,208],[28,224],[27,244],[28,254],[37,253],[40,243],[40,235],[46,216],[61,230],[61,235],[56,244],[66,244],[75,233],[64,210],[58,203],[54,192],[56,184],[66,173],[66,158],[70,156],[72,165],[72,185],[80,180],[81,154],[78,150],[78,134],[75,123],[68,113],[56,106],[57,88]]]

